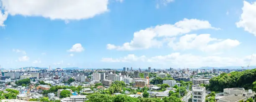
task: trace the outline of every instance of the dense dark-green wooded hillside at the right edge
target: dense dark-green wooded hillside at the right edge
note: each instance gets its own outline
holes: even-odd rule
[[[218,77],[210,80],[210,90],[223,91],[225,88],[244,87],[253,89],[253,82],[256,81],[256,69],[245,70],[243,72],[222,73]]]

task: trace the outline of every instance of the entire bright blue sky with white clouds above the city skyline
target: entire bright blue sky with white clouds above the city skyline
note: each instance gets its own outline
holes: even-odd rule
[[[6,69],[256,65],[255,0],[0,2]]]

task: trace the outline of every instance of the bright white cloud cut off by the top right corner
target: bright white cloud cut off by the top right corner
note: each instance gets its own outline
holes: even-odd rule
[[[236,22],[236,26],[242,27],[245,31],[256,36],[256,2],[251,4],[243,1],[242,10],[243,13],[241,14],[240,21]]]

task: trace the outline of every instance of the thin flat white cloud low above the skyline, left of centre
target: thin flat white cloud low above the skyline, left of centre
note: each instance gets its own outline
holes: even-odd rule
[[[135,62],[135,61],[146,61],[146,56],[140,56],[140,57],[137,57],[136,55],[133,55],[133,54],[129,54],[125,57],[120,57],[120,58],[116,58],[116,59],[113,59],[113,58],[102,58],[101,59],[102,62]]]

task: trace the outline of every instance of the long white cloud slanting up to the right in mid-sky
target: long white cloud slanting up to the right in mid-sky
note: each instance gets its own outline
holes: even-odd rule
[[[145,30],[134,32],[133,40],[131,42],[125,42],[122,46],[116,46],[108,44],[108,50],[141,50],[148,49],[150,47],[161,47],[164,43],[163,37],[174,37],[182,35],[193,30],[200,29],[214,29],[219,28],[212,27],[208,21],[197,19],[184,19],[176,22],[174,25],[165,24],[157,25],[155,27],[149,27]],[[159,40],[160,39],[160,40]]]

